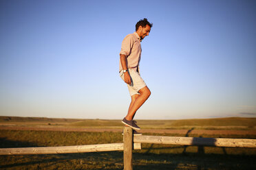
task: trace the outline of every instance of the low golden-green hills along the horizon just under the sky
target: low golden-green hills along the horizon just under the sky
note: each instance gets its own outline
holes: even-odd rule
[[[49,123],[51,125],[71,125],[80,127],[122,126],[120,120],[103,119],[56,119],[47,117],[0,117],[0,123]],[[228,117],[217,119],[180,120],[138,120],[141,127],[256,127],[256,118]]]

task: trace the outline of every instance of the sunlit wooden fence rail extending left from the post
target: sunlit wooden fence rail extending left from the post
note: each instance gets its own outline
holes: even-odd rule
[[[65,147],[18,147],[1,148],[0,155],[26,155],[26,154],[69,154],[95,151],[122,151],[123,143],[109,143],[99,145],[78,145]],[[134,149],[141,149],[140,143],[134,143]]]

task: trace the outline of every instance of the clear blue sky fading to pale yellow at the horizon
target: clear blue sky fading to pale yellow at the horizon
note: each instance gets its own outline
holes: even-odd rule
[[[122,39],[140,19],[136,119],[256,117],[256,1],[0,1],[0,115],[122,119]]]

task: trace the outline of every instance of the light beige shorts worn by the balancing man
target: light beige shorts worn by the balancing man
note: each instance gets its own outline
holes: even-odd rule
[[[140,77],[140,73],[138,73],[137,71],[129,69],[129,74],[131,76],[131,86],[127,84],[129,93],[131,96],[136,94],[139,95],[140,93],[138,93],[138,91],[147,85],[145,84],[144,80],[142,80],[142,77]],[[122,78],[122,80],[124,80],[123,71],[120,71],[120,77]]]

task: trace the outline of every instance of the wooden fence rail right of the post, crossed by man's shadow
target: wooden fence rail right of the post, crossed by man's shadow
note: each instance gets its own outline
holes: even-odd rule
[[[193,138],[175,136],[134,136],[135,143],[171,145],[207,145],[216,147],[256,147],[256,139],[248,138]]]

